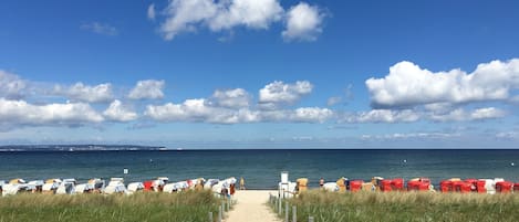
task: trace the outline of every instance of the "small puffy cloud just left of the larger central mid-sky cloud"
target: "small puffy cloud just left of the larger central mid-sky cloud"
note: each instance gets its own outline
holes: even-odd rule
[[[235,88],[228,91],[217,89],[212,94],[212,101],[216,105],[227,108],[248,107],[250,96],[243,88]]]

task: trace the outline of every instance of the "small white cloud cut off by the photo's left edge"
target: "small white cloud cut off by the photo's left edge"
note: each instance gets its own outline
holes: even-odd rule
[[[0,70],[0,97],[22,98],[27,88],[25,81],[18,75]]]

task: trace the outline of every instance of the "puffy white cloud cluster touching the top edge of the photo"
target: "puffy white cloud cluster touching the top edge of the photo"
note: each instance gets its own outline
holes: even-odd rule
[[[323,20],[318,7],[304,2],[286,14],[279,0],[172,0],[165,12],[165,21],[159,27],[165,40],[200,28],[212,32],[232,31],[237,27],[267,30],[287,19],[287,30],[282,32],[286,40],[314,41],[322,32]]]

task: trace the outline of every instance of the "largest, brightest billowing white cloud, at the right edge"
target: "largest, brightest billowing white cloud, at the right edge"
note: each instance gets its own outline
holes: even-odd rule
[[[370,78],[365,83],[375,108],[504,101],[519,88],[519,59],[482,63],[473,73],[461,70],[434,73],[411,62],[399,62],[384,78]]]

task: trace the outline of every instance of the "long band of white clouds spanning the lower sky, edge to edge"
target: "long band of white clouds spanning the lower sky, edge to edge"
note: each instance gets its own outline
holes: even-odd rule
[[[344,112],[299,106],[298,103],[314,91],[314,85],[309,81],[273,81],[258,89],[257,99],[253,99],[253,93],[245,88],[230,88],[215,89],[212,95],[205,98],[157,104],[165,97],[166,83],[162,80],[138,81],[126,93],[115,95],[112,83],[85,85],[77,82],[70,86],[37,84],[0,71],[0,120],[3,130],[144,120],[226,125],[473,121],[502,118],[512,112],[501,108],[506,106],[496,105],[517,99],[515,91],[519,88],[518,80],[519,59],[481,63],[471,73],[459,68],[432,72],[403,61],[390,67],[390,73],[384,77],[365,81],[371,110]],[[65,102],[56,102],[59,98]],[[492,106],[487,105],[489,102]]]

